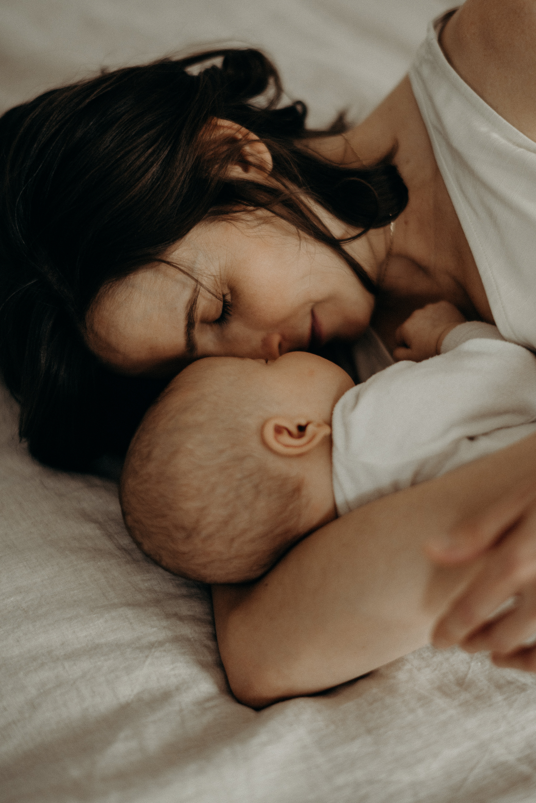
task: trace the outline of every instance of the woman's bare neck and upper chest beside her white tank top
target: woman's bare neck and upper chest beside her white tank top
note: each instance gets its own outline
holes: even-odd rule
[[[317,153],[339,163],[371,165],[394,153],[393,163],[408,187],[408,206],[396,220],[391,253],[375,277],[380,296],[372,321],[389,349],[395,331],[414,309],[445,299],[470,319],[493,316],[469,243],[457,218],[408,78],[363,123],[337,137],[309,141]],[[352,244],[356,259],[370,255],[363,238]],[[388,236],[378,232],[385,243]],[[368,249],[367,253],[366,250]],[[385,252],[384,252],[385,253]],[[380,251],[376,248],[376,254]]]

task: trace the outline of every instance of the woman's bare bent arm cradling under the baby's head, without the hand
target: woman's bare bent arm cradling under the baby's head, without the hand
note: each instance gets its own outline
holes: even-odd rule
[[[481,560],[438,567],[422,546],[536,477],[536,435],[369,503],[294,547],[260,581],[214,586],[221,658],[253,707],[350,680],[428,643]]]

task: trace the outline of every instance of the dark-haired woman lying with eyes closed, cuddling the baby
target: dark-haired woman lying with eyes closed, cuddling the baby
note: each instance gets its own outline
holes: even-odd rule
[[[440,299],[456,304],[466,317],[496,320],[507,337],[536,348],[528,314],[534,283],[529,278],[527,296],[526,281],[519,281],[510,298],[508,287],[497,284],[497,271],[489,264],[497,245],[479,237],[485,231],[491,238],[493,226],[486,229],[481,214],[480,230],[473,230],[471,203],[459,198],[457,178],[463,170],[451,175],[448,160],[442,163],[449,152],[453,160],[456,131],[441,120],[445,109],[437,96],[427,106],[430,59],[432,67],[440,65],[433,78],[436,95],[449,80],[458,81],[458,100],[465,98],[474,107],[480,96],[485,109],[473,112],[481,112],[501,133],[505,126],[509,135],[517,129],[522,141],[508,142],[509,153],[534,140],[536,121],[526,92],[527,76],[536,71],[534,6],[515,0],[506,20],[504,14],[495,0],[468,0],[439,31],[452,67],[437,43],[428,43],[411,84],[404,79],[376,112],[344,136],[340,120],[327,132],[330,137],[307,134],[298,104],[278,111],[277,75],[254,51],[229,52],[221,69],[211,67],[198,77],[184,71],[201,61],[195,57],[160,63],[152,71],[103,75],[7,112],[0,123],[6,266],[2,370],[22,402],[21,434],[33,454],[56,465],[83,467],[99,452],[100,430],[110,420],[103,411],[107,388],[120,385],[113,373],[165,379],[185,361],[206,354],[268,359],[336,337],[352,340],[371,318],[374,295],[373,324],[395,357],[408,353],[400,324],[413,309]],[[249,101],[270,82],[272,103],[259,110]],[[182,101],[178,108],[177,95]],[[488,109],[497,120],[489,120]],[[434,115],[439,116],[439,139],[441,130],[454,138],[443,150]],[[501,209],[506,206],[502,203]],[[477,202],[477,209],[485,210],[485,203]],[[516,207],[514,213],[495,226],[499,244],[505,231],[510,234],[506,243],[519,244],[512,226],[520,217],[525,222],[526,208]],[[534,212],[532,218],[530,209],[526,214],[534,222]],[[490,216],[495,222],[493,209]],[[515,248],[509,254],[517,256]],[[516,331],[510,312],[518,301],[528,301],[528,307]],[[428,605],[424,618],[419,619],[415,600],[413,608],[409,605],[409,589],[422,590],[423,583],[428,588],[429,564],[418,557],[428,533],[448,534],[447,524],[478,511],[475,495],[481,504],[489,503],[514,491],[536,469],[534,449],[526,442],[512,448],[512,457],[503,456],[510,473],[497,471],[502,463],[492,455],[488,463],[465,467],[437,484],[343,516],[304,540],[251,588],[215,589],[221,652],[241,698],[262,704],[317,691],[363,669],[355,662],[359,644],[347,638],[357,612],[343,602],[356,575],[339,573],[329,590],[321,584],[325,577],[339,576],[341,555],[347,570],[380,565],[374,550],[369,559],[363,557],[363,538],[360,544],[355,539],[362,527],[369,546],[382,543],[400,557],[392,548],[392,531],[403,535],[410,521],[407,553],[418,569],[404,576],[398,605],[407,605],[408,615],[396,620],[400,638],[393,636],[380,657],[372,649],[372,664],[419,646],[424,630],[460,593],[462,580],[470,580],[475,566],[480,574],[473,595],[480,593],[481,601],[481,577],[493,573],[498,548],[473,569],[462,570],[461,577],[447,572],[443,596],[437,592],[439,601]],[[437,508],[429,516],[431,503]],[[523,504],[525,510],[526,498]],[[486,532],[486,537],[493,541],[493,535]],[[530,543],[534,540],[530,535]],[[510,541],[511,536],[505,546]],[[335,543],[343,546],[339,552],[330,548]],[[465,549],[451,559],[479,551]],[[368,601],[380,600],[382,584],[392,587],[393,577],[400,575],[400,563],[395,563],[396,571],[393,564],[390,573],[376,573],[365,594]],[[517,592],[522,582],[527,584],[526,574],[513,571],[501,594]],[[523,598],[529,597],[527,592]],[[323,608],[320,630],[304,626],[314,618],[314,601]],[[473,605],[451,641],[463,642],[485,622],[493,610],[489,599],[485,602],[487,608]],[[506,619],[515,616],[519,613]],[[522,610],[522,621],[524,627],[514,628],[498,652],[512,654],[529,634],[527,628],[536,630],[531,605]],[[338,622],[337,628],[330,622]],[[311,637],[307,645],[303,633]],[[336,660],[323,654],[327,646]],[[367,652],[362,643],[360,650]],[[319,656],[322,669],[316,671]],[[514,665],[521,659],[504,660]]]

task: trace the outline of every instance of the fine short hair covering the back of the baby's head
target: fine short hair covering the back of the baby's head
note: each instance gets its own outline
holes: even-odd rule
[[[237,398],[242,362],[209,357],[175,377],[145,415],[121,476],[133,539],[193,580],[253,580],[303,535],[303,482],[262,443],[273,400],[250,384]]]

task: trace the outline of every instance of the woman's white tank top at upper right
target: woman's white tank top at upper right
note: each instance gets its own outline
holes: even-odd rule
[[[428,26],[409,79],[497,328],[536,351],[536,142],[450,66],[437,42],[448,14]]]

